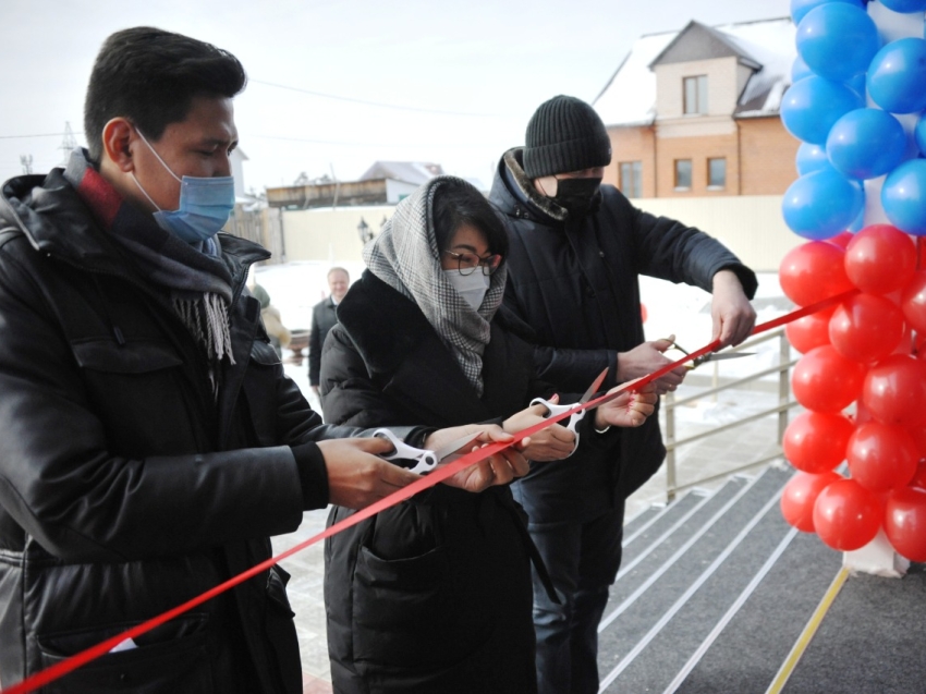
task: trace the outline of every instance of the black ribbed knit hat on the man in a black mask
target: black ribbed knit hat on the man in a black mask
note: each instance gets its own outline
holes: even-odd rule
[[[527,123],[524,173],[539,179],[611,163],[611,139],[605,123],[582,99],[555,96]]]

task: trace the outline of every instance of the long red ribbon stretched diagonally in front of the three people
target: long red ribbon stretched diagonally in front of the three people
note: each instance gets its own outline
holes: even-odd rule
[[[812,304],[809,306],[804,306],[803,308],[799,308],[797,311],[793,311],[790,314],[787,314],[784,316],[776,318],[775,320],[769,320],[768,322],[764,322],[761,325],[756,326],[753,329],[752,334],[759,334],[759,333],[766,332],[768,330],[773,330],[775,328],[778,328],[780,326],[789,324],[792,320],[797,320],[799,318],[803,318],[804,316],[809,316],[811,314],[817,313],[818,311],[829,308],[830,306],[834,306],[834,305],[845,301],[846,299],[855,295],[856,293],[858,293],[858,290],[853,289],[853,290],[850,290],[848,292],[843,292],[842,294],[831,296],[830,299],[825,299],[824,301],[817,302],[816,304]],[[479,461],[483,461],[483,460],[489,458],[490,455],[495,455],[499,451],[502,451],[510,446],[514,446],[515,443],[519,443],[520,441],[527,438],[528,436],[532,436],[533,434],[536,434],[537,431],[540,431],[541,429],[545,429],[548,426],[556,424],[557,422],[565,419],[566,417],[572,416],[576,412],[580,412],[582,410],[594,410],[595,407],[602,405],[606,402],[610,402],[611,400],[613,400],[614,398],[617,398],[618,395],[620,395],[621,393],[623,393],[628,390],[636,390],[636,389],[641,388],[642,386],[645,386],[646,383],[649,383],[649,382],[656,380],[657,378],[665,376],[666,374],[668,374],[672,369],[674,369],[679,366],[682,366],[683,364],[686,364],[687,362],[694,361],[699,356],[704,356],[705,354],[714,352],[718,346],[720,346],[720,340],[719,339],[714,340],[712,342],[710,342],[709,344],[706,344],[705,346],[700,348],[696,352],[692,352],[691,354],[686,354],[682,358],[680,358],[675,362],[672,362],[670,364],[666,364],[663,367],[653,372],[651,374],[648,374],[647,376],[644,376],[643,378],[641,378],[638,380],[632,381],[630,383],[625,383],[625,385],[621,386],[620,388],[618,388],[617,390],[613,390],[610,393],[606,393],[606,394],[604,394],[599,398],[596,398],[594,400],[589,400],[588,402],[586,402],[584,404],[577,404],[574,407],[571,407],[570,410],[561,412],[558,415],[550,416],[550,417],[544,419],[543,422],[535,424],[534,426],[527,427],[526,429],[522,429],[521,431],[515,434],[510,441],[505,441],[503,443],[489,443],[489,445],[487,445],[487,446],[485,446],[485,447],[483,447],[478,450],[475,450],[471,453],[463,455],[462,458],[453,461],[452,463],[450,463],[448,465],[440,466],[437,470],[435,470],[434,472],[431,472],[430,474],[423,476],[421,479],[413,482],[407,487],[403,487],[402,489],[399,489],[398,491],[392,492],[388,497],[380,499],[376,503],[373,503],[373,504],[366,507],[365,509],[357,511],[353,515],[350,515],[350,516],[345,518],[344,520],[336,523],[334,525],[325,528],[325,531],[322,531],[321,533],[318,533],[317,535],[309,537],[308,539],[300,543],[298,545],[296,545],[294,547],[291,547],[290,549],[285,550],[284,552],[281,552],[279,555],[277,555],[276,557],[271,557],[270,559],[267,559],[266,561],[263,561],[261,563],[259,563],[255,567],[252,567],[247,571],[229,579],[224,583],[221,583],[221,584],[217,585],[216,587],[207,590],[206,593],[203,593],[202,595],[198,595],[198,596],[192,598],[191,600],[187,600],[183,605],[179,605],[178,607],[175,607],[171,610],[168,610],[167,612],[163,612],[162,614],[158,614],[157,617],[153,617],[148,621],[142,622],[141,624],[132,626],[131,629],[127,629],[124,632],[117,634],[115,636],[107,638],[106,641],[97,644],[96,646],[87,648],[86,650],[82,650],[81,653],[73,655],[65,660],[62,660],[61,662],[58,662],[58,663],[56,663],[56,665],[53,665],[49,668],[46,668],[45,670],[36,672],[35,674],[33,674],[29,678],[26,678],[22,682],[14,684],[11,687],[8,687],[5,690],[0,691],[0,694],[26,694],[27,692],[33,692],[40,686],[45,686],[49,682],[58,680],[58,679],[64,677],[65,674],[68,674],[69,672],[76,670],[81,666],[84,666],[84,665],[90,662],[92,660],[96,660],[97,658],[106,655],[107,653],[112,650],[113,647],[118,646],[119,644],[121,644],[126,638],[134,638],[136,636],[139,636],[144,633],[151,631],[156,626],[159,626],[159,625],[163,624],[165,622],[170,621],[174,617],[183,614],[184,612],[192,610],[194,607],[197,607],[198,605],[202,605],[203,602],[210,600],[211,598],[216,597],[217,595],[220,595],[220,594],[224,593],[226,590],[230,590],[234,586],[240,585],[241,583],[244,583],[248,579],[252,579],[253,576],[255,576],[259,573],[263,573],[264,571],[267,571],[268,569],[270,569],[270,567],[272,567],[273,564],[276,564],[279,561],[282,561],[287,557],[291,557],[292,555],[295,555],[296,552],[302,551],[306,547],[315,545],[316,543],[325,539],[326,537],[331,537],[332,535],[336,535],[336,534],[340,533],[341,531],[344,531],[344,529],[351,527],[352,525],[356,525],[361,521],[365,521],[366,519],[368,519],[373,515],[376,515],[380,511],[385,511],[386,509],[395,506],[400,501],[404,501],[405,499],[410,499],[411,497],[415,496],[419,491],[424,491],[425,489],[428,489],[429,487],[434,487],[435,485],[443,482],[444,479],[452,477],[453,475],[455,475],[458,472],[460,472],[464,467],[468,467],[470,465],[474,465],[475,463],[478,463]]]

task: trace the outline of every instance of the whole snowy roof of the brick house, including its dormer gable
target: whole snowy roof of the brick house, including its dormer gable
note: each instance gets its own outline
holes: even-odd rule
[[[655,65],[735,56],[755,70],[740,95],[735,117],[777,114],[797,56],[794,37],[790,17],[715,27],[690,22],[680,32],[644,35],[593,106],[606,125],[649,125],[656,119]]]

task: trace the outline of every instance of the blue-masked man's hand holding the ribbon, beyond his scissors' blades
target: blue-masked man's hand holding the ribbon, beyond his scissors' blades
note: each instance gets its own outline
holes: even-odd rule
[[[514,438],[495,424],[467,424],[448,429],[438,429],[425,439],[424,447],[429,450],[440,449],[454,439],[462,438],[467,434],[475,434],[476,431],[480,433],[479,437],[461,449],[461,453],[468,453],[488,443],[507,443]],[[515,477],[527,474],[529,464],[527,463],[527,459],[520,452],[520,448],[529,446],[529,442],[531,439],[525,438],[519,445],[519,450],[510,446],[486,460],[464,467],[455,475],[444,479],[443,484],[465,489],[466,491],[483,491],[495,485],[507,485]]]

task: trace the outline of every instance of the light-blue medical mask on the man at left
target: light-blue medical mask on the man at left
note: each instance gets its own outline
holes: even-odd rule
[[[160,155],[155,151],[150,143],[141,131],[138,136],[148,149],[157,157],[161,166],[167,169],[174,179],[180,181],[180,207],[174,211],[162,210],[147,191],[138,183],[135,172],[132,179],[138,190],[148,198],[158,211],[154,214],[158,226],[169,231],[186,243],[206,241],[211,239],[226,226],[229,215],[234,210],[234,176],[223,175],[214,178],[185,175],[180,179],[170,167],[165,163]]]

